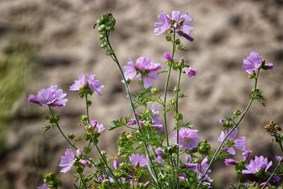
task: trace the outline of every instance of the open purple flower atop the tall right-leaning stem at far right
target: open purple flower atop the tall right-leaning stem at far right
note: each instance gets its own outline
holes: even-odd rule
[[[255,73],[256,69],[259,69],[262,64],[262,59],[260,53],[250,52],[250,55],[243,59],[243,69],[248,72],[248,74]]]

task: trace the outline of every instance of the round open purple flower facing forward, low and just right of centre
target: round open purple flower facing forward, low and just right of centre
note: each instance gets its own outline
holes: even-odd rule
[[[174,136],[175,142],[177,142],[177,132],[175,132]],[[199,144],[199,136],[197,134],[197,130],[181,128],[179,130],[179,147],[183,147],[184,149],[192,149],[197,147]]]

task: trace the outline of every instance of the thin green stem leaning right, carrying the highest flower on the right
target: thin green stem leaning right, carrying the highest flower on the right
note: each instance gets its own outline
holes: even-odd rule
[[[258,85],[258,76],[260,74],[260,69],[258,69],[258,74],[255,78],[255,86],[253,88],[253,93],[255,92],[255,88]],[[238,127],[238,125],[240,124],[241,120],[243,120],[243,118],[245,117],[246,113],[248,112],[248,109],[250,108],[250,105],[253,103],[253,99],[250,99],[250,102],[248,103],[248,106],[245,110],[245,112],[243,113],[243,115],[241,116],[240,120],[238,120],[238,122],[236,123],[236,125],[234,125],[231,130],[228,132],[228,134],[226,134],[226,136],[224,137],[223,141],[221,142],[221,144],[219,145],[218,149],[216,150],[214,156],[212,157],[212,160],[209,162],[209,165],[207,166],[207,170],[204,172],[204,175],[202,176],[202,178],[200,178],[200,183],[197,185],[197,189],[200,188],[200,185],[202,184],[202,181],[204,180],[204,177],[207,175],[207,172],[209,171],[210,166],[212,166],[212,162],[216,159],[216,156],[218,156],[219,152],[222,150],[224,143],[226,142],[226,139],[229,137],[229,135],[233,132],[233,130],[236,129],[236,127]]]

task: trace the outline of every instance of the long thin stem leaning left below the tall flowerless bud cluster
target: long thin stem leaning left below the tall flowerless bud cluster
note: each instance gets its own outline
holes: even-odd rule
[[[107,39],[108,45],[110,47],[110,50],[113,50],[111,45],[110,45],[110,40],[109,40],[108,33],[106,33],[106,39]],[[120,62],[118,61],[118,59],[117,59],[117,57],[115,55],[114,50],[113,50],[113,54],[111,55],[111,57],[112,57],[113,61],[116,63],[116,65],[117,65],[117,67],[118,67],[118,69],[120,71],[120,74],[122,75],[123,81],[125,83],[126,91],[127,91],[127,97],[129,99],[130,108],[132,109],[132,114],[134,115],[134,119],[136,120],[137,126],[139,127],[139,132],[141,134],[141,137],[144,139],[144,132],[142,132],[142,130],[141,130],[141,125],[139,124],[139,120],[138,120],[137,115],[135,113],[134,103],[132,101],[132,95],[131,95],[131,92],[129,91],[129,85],[127,84],[127,80],[125,78],[125,74],[122,71],[122,67],[121,67]],[[146,151],[146,155],[149,158],[149,162],[151,164],[151,168],[154,171],[154,175],[151,174],[151,176],[154,178],[154,181],[156,181],[156,183],[158,184],[158,188],[162,188],[161,184],[158,182],[158,175],[157,175],[157,172],[156,172],[156,168],[154,167],[153,161],[152,161],[151,157],[149,156],[149,149],[146,146],[146,142],[143,141],[143,145],[144,145],[144,149]]]

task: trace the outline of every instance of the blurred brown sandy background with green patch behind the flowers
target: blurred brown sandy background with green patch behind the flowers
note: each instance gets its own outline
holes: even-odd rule
[[[273,62],[275,68],[260,73],[259,86],[267,98],[266,107],[253,103],[239,126],[247,148],[253,155],[274,159],[277,146],[264,130],[275,120],[283,125],[283,1],[282,0],[1,0],[0,1],[0,188],[36,188],[42,174],[57,173],[64,185],[73,188],[72,172],[59,173],[60,156],[68,147],[57,130],[40,134],[48,113],[27,102],[28,94],[55,84],[68,92],[67,107],[61,113],[65,132],[82,134],[79,116],[85,111],[83,99],[68,91],[79,74],[96,74],[104,98],[92,97],[91,118],[109,128],[111,121],[128,115],[129,105],[120,74],[100,50],[98,33],[93,24],[102,13],[113,13],[117,24],[112,46],[120,62],[129,58],[151,57],[164,65],[163,52],[171,52],[165,35],[154,35],[153,23],[161,11],[187,11],[194,18],[191,35],[194,42],[183,41],[189,48],[175,57],[185,57],[198,74],[183,76],[181,88],[187,98],[180,102],[180,112],[192,120],[202,138],[216,148],[221,132],[218,120],[234,110],[244,110],[253,81],[241,69],[250,51]],[[164,89],[165,75],[155,86]],[[169,98],[176,84],[171,77]],[[137,91],[137,86],[132,91]],[[161,109],[158,107],[158,109]],[[173,124],[173,120],[170,120]],[[120,130],[122,131],[122,130]],[[119,131],[103,132],[100,147],[115,154]],[[81,145],[81,144],[80,144]],[[241,154],[241,153],[238,153]],[[96,156],[93,151],[93,156]],[[241,156],[235,157],[240,159]],[[214,188],[236,183],[233,168],[217,161],[212,168]],[[225,181],[225,182],[224,182]]]

